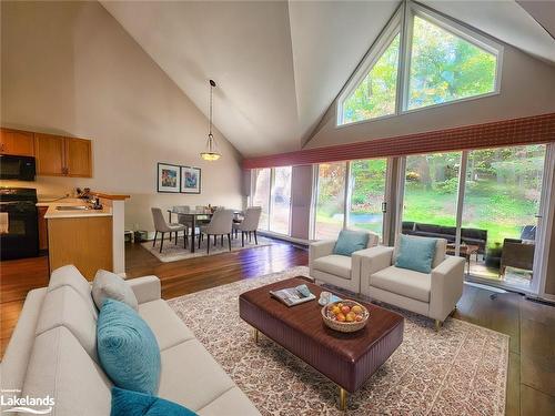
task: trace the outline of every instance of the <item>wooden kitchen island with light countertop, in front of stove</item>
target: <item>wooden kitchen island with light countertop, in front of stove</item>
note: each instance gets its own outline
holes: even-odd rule
[[[50,271],[74,264],[88,280],[93,280],[99,268],[124,275],[124,201],[129,196],[94,195],[102,210],[77,199],[38,204],[48,205]]]

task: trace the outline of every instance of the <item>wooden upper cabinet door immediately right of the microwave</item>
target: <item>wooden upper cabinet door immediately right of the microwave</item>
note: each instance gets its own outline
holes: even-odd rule
[[[34,158],[38,175],[65,175],[64,138],[34,133]]]

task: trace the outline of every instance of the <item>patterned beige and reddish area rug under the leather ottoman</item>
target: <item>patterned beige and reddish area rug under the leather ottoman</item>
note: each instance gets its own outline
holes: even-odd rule
[[[337,387],[271,339],[252,339],[238,296],[307,267],[241,281],[169,301],[262,415],[343,415]],[[448,318],[405,316],[403,344],[355,394],[349,415],[503,415],[508,336]],[[199,316],[203,316],[202,325]]]

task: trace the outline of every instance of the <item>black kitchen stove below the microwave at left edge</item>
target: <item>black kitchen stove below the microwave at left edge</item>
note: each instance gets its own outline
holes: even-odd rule
[[[37,190],[0,187],[0,258],[39,255]]]

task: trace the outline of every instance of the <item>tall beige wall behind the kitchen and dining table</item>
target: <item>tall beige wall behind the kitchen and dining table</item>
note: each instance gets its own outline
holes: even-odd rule
[[[241,207],[241,156],[204,162],[208,121],[98,2],[1,3],[1,125],[92,139],[93,179],[38,176],[50,197],[75,186],[130,194],[127,227],[152,230],[151,206]],[[210,74],[205,74],[206,79]],[[208,105],[206,82],[206,105]],[[218,108],[214,109],[218,118]],[[202,169],[201,195],[157,193],[157,163]]]

